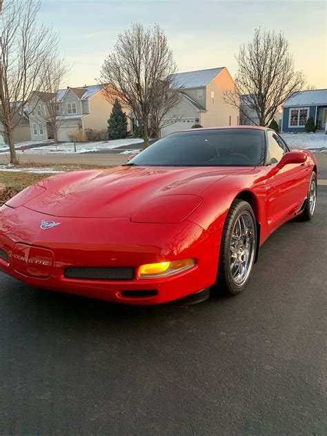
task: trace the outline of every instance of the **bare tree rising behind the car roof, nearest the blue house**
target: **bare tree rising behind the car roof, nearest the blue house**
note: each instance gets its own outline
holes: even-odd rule
[[[236,60],[237,88],[226,90],[224,99],[251,123],[267,126],[277,108],[304,87],[304,75],[295,71],[281,32],[256,29],[252,41],[240,46]]]

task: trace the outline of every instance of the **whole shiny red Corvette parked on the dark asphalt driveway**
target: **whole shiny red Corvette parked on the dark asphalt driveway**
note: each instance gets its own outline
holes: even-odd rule
[[[246,287],[259,246],[317,199],[312,152],[260,127],[160,139],[128,164],[56,175],[0,209],[0,269],[127,304]]]

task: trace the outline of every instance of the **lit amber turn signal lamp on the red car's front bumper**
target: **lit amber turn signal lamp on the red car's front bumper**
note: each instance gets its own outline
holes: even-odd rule
[[[195,259],[182,259],[160,262],[159,264],[146,264],[139,266],[138,279],[161,279],[170,275],[181,273],[195,266]]]

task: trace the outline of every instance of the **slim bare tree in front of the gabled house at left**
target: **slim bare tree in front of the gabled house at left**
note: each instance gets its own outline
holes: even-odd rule
[[[56,146],[58,143],[58,130],[65,114],[63,105],[59,101],[59,89],[68,74],[68,70],[66,60],[59,58],[57,53],[46,59],[41,68],[43,81],[41,92],[38,93],[43,105],[41,116],[43,121],[48,124]]]

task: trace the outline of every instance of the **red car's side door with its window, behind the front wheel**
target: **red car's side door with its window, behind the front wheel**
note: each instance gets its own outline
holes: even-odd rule
[[[290,150],[274,130],[267,131],[267,143],[267,165],[273,169]],[[273,230],[301,208],[308,191],[308,169],[306,164],[288,164],[272,171],[273,175],[267,181],[267,194],[273,207]]]

